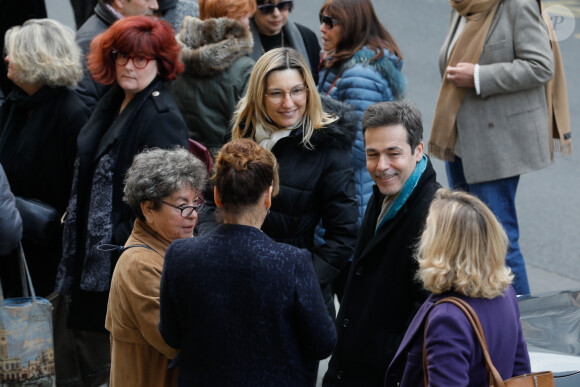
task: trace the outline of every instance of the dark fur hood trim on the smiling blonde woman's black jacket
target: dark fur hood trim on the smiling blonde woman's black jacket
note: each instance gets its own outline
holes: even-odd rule
[[[322,100],[322,110],[338,116],[338,120],[322,129],[315,130],[310,142],[315,146],[315,149],[326,147],[352,149],[358,131],[358,114],[348,104],[326,96],[320,96],[320,99]]]

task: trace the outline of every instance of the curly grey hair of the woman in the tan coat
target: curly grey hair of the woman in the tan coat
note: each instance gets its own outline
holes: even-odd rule
[[[135,156],[127,170],[123,201],[137,218],[145,220],[142,202],[151,200],[153,210],[158,210],[161,200],[183,187],[201,193],[206,178],[205,164],[182,147],[145,149]]]

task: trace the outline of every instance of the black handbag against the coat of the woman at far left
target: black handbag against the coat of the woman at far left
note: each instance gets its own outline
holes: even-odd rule
[[[22,218],[23,241],[46,245],[56,238],[60,216],[53,207],[40,200],[16,196],[16,208]]]

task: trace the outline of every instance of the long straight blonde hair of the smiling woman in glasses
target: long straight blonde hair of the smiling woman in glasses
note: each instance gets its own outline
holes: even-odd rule
[[[248,136],[253,139],[258,123],[271,132],[279,129],[266,113],[264,96],[268,76],[274,71],[289,69],[297,70],[304,78],[308,88],[306,111],[302,120],[302,144],[308,149],[313,149],[314,146],[311,144],[310,138],[314,131],[338,119],[338,117],[329,115],[322,110],[322,102],[310,69],[298,51],[293,48],[280,47],[266,52],[254,65],[246,95],[238,102],[232,119],[232,139]]]

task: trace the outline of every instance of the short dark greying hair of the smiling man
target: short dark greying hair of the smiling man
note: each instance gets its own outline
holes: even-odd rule
[[[405,127],[407,143],[411,146],[411,152],[415,153],[415,148],[423,140],[423,121],[419,108],[405,100],[369,106],[362,116],[363,138],[368,128],[398,124]]]

